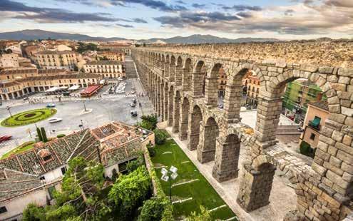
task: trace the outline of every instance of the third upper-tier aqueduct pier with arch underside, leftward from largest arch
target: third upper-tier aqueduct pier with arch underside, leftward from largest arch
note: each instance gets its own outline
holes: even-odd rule
[[[222,68],[221,63],[215,63],[205,78],[205,104],[210,108],[218,105],[218,73]]]

